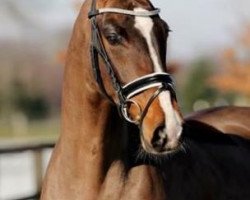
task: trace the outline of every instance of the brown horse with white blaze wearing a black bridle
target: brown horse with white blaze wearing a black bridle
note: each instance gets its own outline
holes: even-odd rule
[[[147,0],[85,1],[41,199],[250,199],[248,141],[183,123],[158,12]]]

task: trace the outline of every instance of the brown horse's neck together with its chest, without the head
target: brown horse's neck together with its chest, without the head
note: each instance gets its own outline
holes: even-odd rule
[[[91,78],[91,63],[86,51],[89,38],[84,37],[84,31],[89,30],[84,20],[89,2],[85,2],[77,19],[68,50],[62,133],[46,174],[42,199],[81,199],[83,196],[85,199],[97,199],[97,196],[110,199],[109,194],[116,193],[130,195],[128,199],[132,200],[142,199],[140,195],[147,191],[151,193],[143,199],[155,199],[155,193],[160,197],[156,199],[162,199],[162,191],[158,192],[155,187],[159,178],[154,168],[127,165],[130,152],[121,128],[124,122],[116,108],[97,92],[98,87],[93,88],[96,83]],[[124,172],[127,178],[122,178]]]

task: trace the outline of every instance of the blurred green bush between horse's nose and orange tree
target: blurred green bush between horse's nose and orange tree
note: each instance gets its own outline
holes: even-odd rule
[[[207,59],[200,59],[190,68],[191,71],[181,91],[184,113],[191,112],[198,99],[213,102],[218,96],[218,92],[207,83],[207,79],[213,74],[213,63]]]

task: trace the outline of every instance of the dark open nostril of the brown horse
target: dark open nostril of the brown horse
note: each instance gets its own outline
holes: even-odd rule
[[[164,151],[165,150],[165,145],[167,143],[167,135],[165,133],[165,126],[159,126],[157,129],[154,131],[153,138],[151,140],[152,147],[158,151]]]

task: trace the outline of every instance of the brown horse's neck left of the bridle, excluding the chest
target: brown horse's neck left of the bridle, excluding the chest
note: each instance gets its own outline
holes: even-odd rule
[[[98,92],[92,78],[86,51],[89,38],[84,32],[85,28],[89,29],[87,12],[81,13],[68,49],[63,82],[62,131],[47,172],[44,196],[50,193],[62,197],[72,195],[68,183],[75,186],[74,191],[88,191],[94,196],[109,163],[121,154],[122,138],[116,131],[121,121],[114,106]],[[111,151],[108,146],[116,150]],[[54,191],[49,188],[52,185]]]

